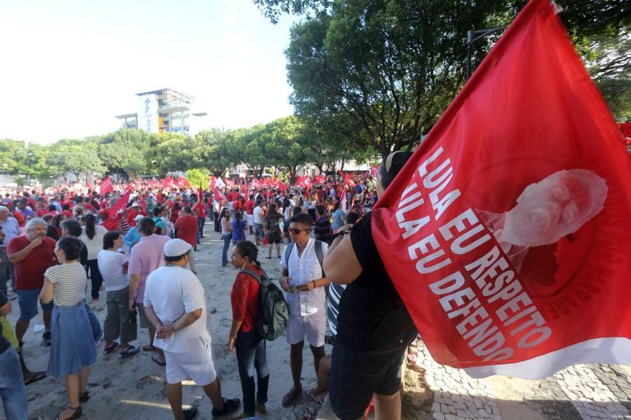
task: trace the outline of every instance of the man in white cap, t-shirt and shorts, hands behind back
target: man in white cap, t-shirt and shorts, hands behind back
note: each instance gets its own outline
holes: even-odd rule
[[[201,384],[212,401],[212,416],[236,411],[238,398],[222,397],[210,345],[210,325],[204,288],[197,276],[185,269],[191,244],[170,239],[164,245],[165,265],[151,272],[144,288],[144,311],[156,328],[154,345],[166,360],[167,397],[175,419],[194,419],[196,407],[182,409],[182,381]]]

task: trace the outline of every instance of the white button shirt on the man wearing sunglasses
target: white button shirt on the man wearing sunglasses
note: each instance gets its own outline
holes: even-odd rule
[[[328,244],[323,242],[322,251],[327,251]],[[318,255],[315,255],[315,239],[309,238],[302,255],[298,255],[298,246],[294,244],[292,246],[292,253],[288,260],[288,265],[285,264],[286,256],[285,252],[287,247],[283,249],[283,255],[280,258],[280,265],[289,271],[291,281],[289,286],[300,286],[301,284],[308,283],[312,280],[322,279],[322,267],[318,262]],[[325,288],[318,287],[311,292],[285,292],[285,300],[287,301],[287,307],[289,308],[290,315],[292,316],[305,316],[315,314],[318,311],[324,313],[326,292]]]

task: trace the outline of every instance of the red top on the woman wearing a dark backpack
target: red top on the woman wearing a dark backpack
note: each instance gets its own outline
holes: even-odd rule
[[[261,274],[256,265],[248,265],[247,268]],[[259,313],[259,290],[261,285],[250,274],[239,273],[230,292],[232,304],[232,318],[242,321],[239,331],[248,332],[254,328],[256,314]]]

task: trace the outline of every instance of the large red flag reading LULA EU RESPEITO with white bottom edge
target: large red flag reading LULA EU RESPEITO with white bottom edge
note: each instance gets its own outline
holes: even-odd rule
[[[380,197],[372,234],[439,363],[631,363],[631,170],[549,0],[531,0]]]

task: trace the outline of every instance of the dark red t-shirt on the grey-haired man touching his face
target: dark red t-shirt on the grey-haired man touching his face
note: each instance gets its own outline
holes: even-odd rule
[[[19,236],[11,239],[6,254],[13,255],[22,251],[31,241],[25,236]],[[15,276],[15,288],[18,290],[32,290],[43,286],[43,274],[48,267],[52,267],[56,263],[55,239],[45,237],[43,242],[37,248],[34,248],[27,257],[16,262],[13,265],[13,275]]]

